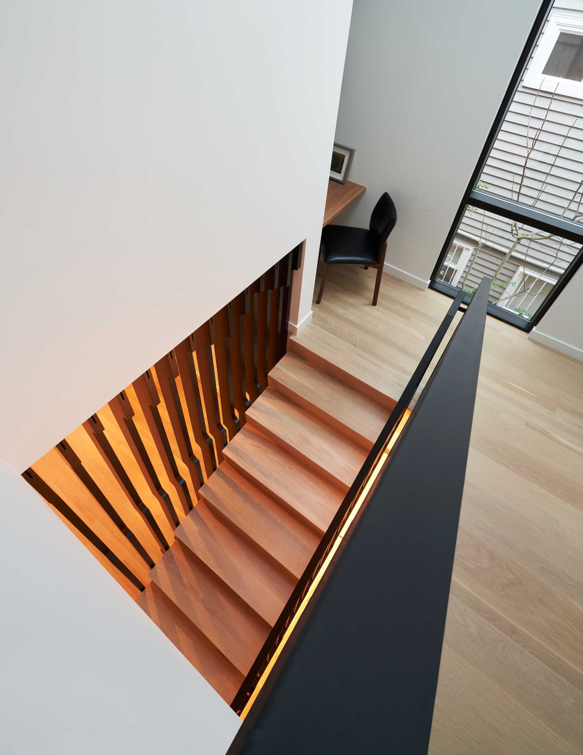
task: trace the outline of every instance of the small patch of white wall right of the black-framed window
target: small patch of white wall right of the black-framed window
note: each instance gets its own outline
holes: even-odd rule
[[[560,292],[529,338],[583,362],[583,267]]]

